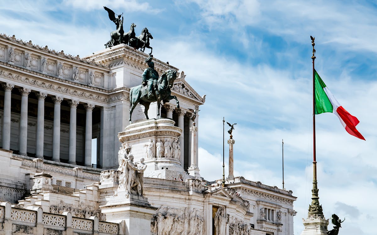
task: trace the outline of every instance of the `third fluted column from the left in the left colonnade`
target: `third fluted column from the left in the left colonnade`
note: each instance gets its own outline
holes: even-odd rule
[[[47,94],[39,92],[38,97],[38,113],[37,113],[37,147],[35,156],[43,159],[43,137],[44,137],[44,99]]]

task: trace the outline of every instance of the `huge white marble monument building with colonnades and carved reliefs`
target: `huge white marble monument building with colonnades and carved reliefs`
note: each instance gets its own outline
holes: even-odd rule
[[[79,58],[0,35],[0,235],[293,235],[292,191],[200,177],[202,123],[192,127],[189,109],[205,96],[183,71],[172,88],[180,109],[172,100],[156,120],[152,103],[146,120],[139,105],[129,125],[129,89],[147,57],[121,44]],[[159,75],[178,70],[153,61]],[[144,197],[121,196],[126,145],[145,158]]]

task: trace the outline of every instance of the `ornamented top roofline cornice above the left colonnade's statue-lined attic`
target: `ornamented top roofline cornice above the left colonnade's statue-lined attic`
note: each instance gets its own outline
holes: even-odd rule
[[[33,50],[37,53],[46,54],[48,56],[54,56],[60,60],[69,60],[71,62],[75,61],[79,63],[81,66],[90,66],[95,67],[95,69],[106,70],[107,72],[109,71],[107,65],[95,61],[89,61],[88,59],[80,58],[79,56],[72,56],[69,54],[67,55],[63,51],[57,52],[55,50],[48,49],[47,46],[41,47],[40,45],[32,44],[31,41],[25,42],[22,39],[16,39],[14,35],[10,37],[5,34],[0,34],[0,41],[11,43],[13,46],[23,47],[27,50]]]

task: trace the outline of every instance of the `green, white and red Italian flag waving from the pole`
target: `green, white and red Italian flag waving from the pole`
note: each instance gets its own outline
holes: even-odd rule
[[[346,131],[356,136],[359,139],[365,140],[365,138],[360,134],[358,130],[356,130],[356,125],[359,124],[359,120],[349,114],[343,106],[339,104],[339,102],[335,99],[333,94],[331,94],[330,90],[327,88],[326,84],[322,81],[321,77],[318,75],[317,71],[314,71],[314,79],[315,79],[315,111],[316,114],[322,114],[324,112],[332,112],[335,114],[340,123],[342,123],[343,127]]]

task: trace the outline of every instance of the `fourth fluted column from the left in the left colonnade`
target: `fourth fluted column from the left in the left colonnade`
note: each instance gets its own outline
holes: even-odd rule
[[[52,136],[52,161],[60,162],[60,103],[61,97],[54,97],[54,129]]]

